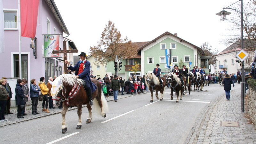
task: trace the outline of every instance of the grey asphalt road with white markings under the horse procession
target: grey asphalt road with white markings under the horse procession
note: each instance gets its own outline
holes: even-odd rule
[[[232,88],[241,89],[241,85]],[[61,133],[61,114],[38,118],[0,128],[1,143],[184,143],[204,108],[225,95],[223,87],[211,84],[208,92],[191,92],[179,103],[170,100],[170,89],[164,100],[150,103],[150,93],[133,95],[117,102],[109,101],[109,112],[103,118],[93,113],[92,123],[85,124],[87,108],[82,112],[82,129],[76,130],[76,110],[68,111],[68,131]]]

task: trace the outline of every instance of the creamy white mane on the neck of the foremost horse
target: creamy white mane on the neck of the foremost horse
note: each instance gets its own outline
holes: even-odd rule
[[[76,78],[75,75],[63,74],[60,76],[61,76],[62,86],[67,86],[67,85],[74,86],[76,82],[78,82],[81,85],[84,83],[82,79]]]

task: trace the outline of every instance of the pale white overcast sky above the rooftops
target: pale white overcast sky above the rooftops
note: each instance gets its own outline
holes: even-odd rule
[[[196,45],[223,51],[231,23],[216,13],[237,0],[54,0],[79,54],[90,53],[108,20],[132,42],[151,41],[168,31]],[[244,0],[246,1],[246,0]],[[244,2],[245,3],[245,2]],[[229,10],[227,10],[229,11]],[[232,14],[232,10],[229,11]],[[228,19],[229,16],[227,16]],[[63,36],[67,36],[64,34]],[[74,54],[76,55],[76,54]]]

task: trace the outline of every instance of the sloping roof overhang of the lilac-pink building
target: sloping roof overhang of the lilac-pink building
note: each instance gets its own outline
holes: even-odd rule
[[[66,27],[54,0],[44,0],[44,1],[49,7],[50,11],[52,12],[54,18],[57,20],[58,24],[60,25],[60,28],[62,29],[62,31],[65,34],[69,35],[68,28]]]

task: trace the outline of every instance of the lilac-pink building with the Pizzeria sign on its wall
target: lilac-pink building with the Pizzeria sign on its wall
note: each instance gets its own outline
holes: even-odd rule
[[[62,20],[54,0],[39,1],[36,26],[36,59],[33,54],[33,49],[30,48],[31,38],[21,37],[22,77],[19,77],[20,24],[18,22],[18,0],[0,0],[0,5],[1,2],[3,3],[2,12],[4,13],[4,49],[0,51],[3,52],[0,53],[0,61],[2,62],[0,78],[5,76],[8,78],[8,82],[10,84],[13,83],[13,92],[16,85],[16,79],[18,78],[25,78],[30,84],[31,79],[36,79],[36,82],[38,82],[41,76],[44,76],[47,81],[50,76],[53,77],[61,75],[64,71],[63,58],[44,58],[43,34],[69,35],[68,29]],[[60,35],[59,37],[60,49],[63,50],[63,41],[67,42],[67,49],[76,49],[75,44],[72,41],[63,38],[63,35]],[[63,57],[63,54],[60,54],[60,57],[61,56]],[[73,60],[73,54],[68,54],[68,59]],[[14,79],[13,82],[11,81],[12,78]],[[12,100],[14,99],[12,98]]]

